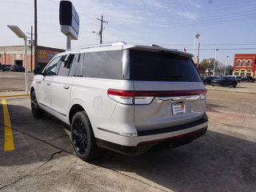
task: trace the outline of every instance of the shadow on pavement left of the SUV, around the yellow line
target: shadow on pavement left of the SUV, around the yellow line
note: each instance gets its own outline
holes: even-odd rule
[[[8,110],[15,149],[4,151],[3,116],[0,107],[0,166],[45,162],[62,150],[73,153],[70,131],[55,122],[53,118],[47,116],[34,118],[30,108],[26,106],[8,105]],[[62,153],[62,156],[64,154],[66,153]]]

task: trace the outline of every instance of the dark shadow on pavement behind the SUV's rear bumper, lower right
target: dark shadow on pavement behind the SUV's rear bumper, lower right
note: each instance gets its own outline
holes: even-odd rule
[[[255,149],[254,142],[208,130],[186,146],[139,156],[111,152],[95,163],[174,191],[256,191]]]

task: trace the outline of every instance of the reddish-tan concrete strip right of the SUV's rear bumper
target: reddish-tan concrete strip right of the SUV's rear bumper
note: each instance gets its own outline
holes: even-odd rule
[[[210,122],[217,122],[231,126],[256,128],[256,116],[244,114],[229,114],[223,112],[206,111]]]

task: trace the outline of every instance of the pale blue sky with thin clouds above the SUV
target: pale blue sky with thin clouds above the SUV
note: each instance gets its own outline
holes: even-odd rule
[[[1,0],[0,46],[23,45],[6,25],[30,32],[34,26],[34,0]],[[58,21],[59,0],[38,0],[38,45],[66,48]],[[80,16],[80,31],[72,47],[98,44],[92,31],[100,30],[103,42],[165,46],[193,54],[194,35],[201,44],[199,58],[214,58],[233,65],[234,54],[256,53],[255,0],[73,0]],[[27,34],[30,36],[30,34]]]

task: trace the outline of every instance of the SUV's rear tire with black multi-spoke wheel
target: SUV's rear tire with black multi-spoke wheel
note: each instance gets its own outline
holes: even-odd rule
[[[101,154],[102,150],[97,146],[90,120],[85,111],[74,114],[71,123],[71,138],[75,153],[83,161],[90,162]]]

